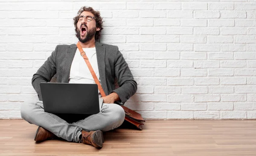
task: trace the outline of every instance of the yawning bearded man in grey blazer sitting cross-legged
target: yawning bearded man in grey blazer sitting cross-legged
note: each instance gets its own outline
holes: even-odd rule
[[[32,77],[32,86],[38,93],[39,101],[24,102],[20,110],[21,117],[39,126],[35,134],[36,142],[59,137],[101,148],[104,142],[102,131],[119,127],[125,118],[124,110],[115,103],[123,104],[134,95],[137,83],[118,47],[96,42],[102,30],[99,11],[81,7],[73,20],[76,37],[107,95],[102,97],[99,93],[103,99],[101,111],[78,121],[69,121],[71,116],[44,112],[39,84],[49,82],[55,74],[59,83],[95,83],[76,44],[57,45]],[[115,88],[115,78],[119,88]]]

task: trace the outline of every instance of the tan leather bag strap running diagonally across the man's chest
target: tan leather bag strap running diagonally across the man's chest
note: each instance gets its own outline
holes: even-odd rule
[[[95,81],[96,84],[98,85],[98,89],[99,89],[100,94],[102,95],[102,97],[105,97],[106,94],[105,94],[105,92],[104,92],[102,86],[100,85],[99,79],[97,78],[95,72],[93,71],[93,67],[91,66],[91,64],[90,64],[90,62],[89,62],[89,60],[88,60],[88,57],[86,56],[86,54],[85,54],[85,52],[84,52],[82,46],[80,45],[79,41],[78,41],[78,43],[76,44],[76,46],[77,46],[77,48],[79,49],[81,56],[84,58],[84,61],[86,62],[87,66],[88,66],[88,68],[89,68],[89,70],[90,70],[90,73],[91,73],[92,76],[93,76],[94,81]]]

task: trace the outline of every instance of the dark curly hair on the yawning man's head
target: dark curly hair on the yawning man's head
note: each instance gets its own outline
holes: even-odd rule
[[[94,15],[94,18],[96,20],[96,27],[100,28],[100,30],[96,31],[96,34],[95,34],[95,40],[98,41],[99,37],[100,37],[100,32],[103,29],[103,27],[102,27],[102,24],[103,24],[102,17],[100,16],[99,11],[95,11],[92,7],[86,7],[86,6],[81,7],[81,9],[77,12],[77,16],[76,17],[80,16],[80,14],[82,12],[84,12],[84,11],[91,12]],[[78,20],[77,20],[76,17],[73,18],[74,26],[75,26],[75,31],[77,30],[77,26],[76,25],[78,23]]]

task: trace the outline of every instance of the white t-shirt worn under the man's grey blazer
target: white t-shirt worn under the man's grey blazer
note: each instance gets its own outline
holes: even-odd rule
[[[86,56],[88,57],[88,60],[90,61],[90,64],[93,67],[93,71],[95,72],[97,78],[100,81],[99,77],[99,68],[98,68],[98,62],[97,62],[97,56],[96,56],[96,48],[83,48]],[[76,54],[73,59],[73,62],[71,64],[70,69],[70,79],[69,83],[87,83],[87,84],[96,84],[92,74],[90,73],[89,68],[87,67],[86,62],[84,61],[84,58],[81,56],[79,49],[76,49]],[[99,90],[98,90],[99,92]],[[101,98],[101,94],[99,92],[99,98]]]

